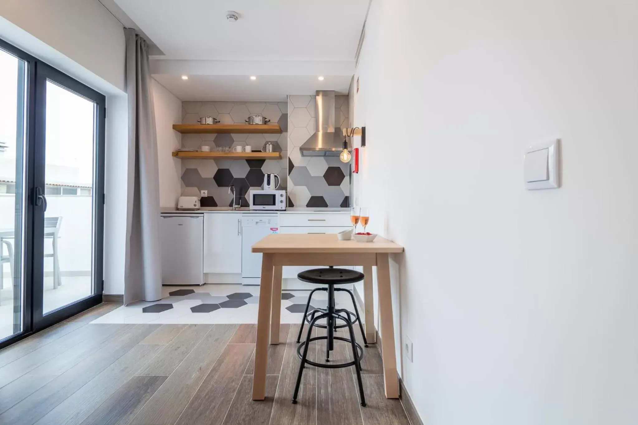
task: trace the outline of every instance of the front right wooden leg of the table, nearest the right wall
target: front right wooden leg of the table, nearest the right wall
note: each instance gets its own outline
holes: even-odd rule
[[[399,398],[399,377],[394,352],[394,322],[392,321],[392,291],[388,254],[376,254],[376,278],[379,292],[379,322],[383,353],[383,381],[385,397]]]

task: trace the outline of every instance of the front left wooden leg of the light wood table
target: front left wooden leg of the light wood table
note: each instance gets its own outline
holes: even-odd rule
[[[253,400],[263,400],[266,396],[266,370],[268,367],[268,340],[271,330],[273,254],[262,255],[262,280],[259,289],[259,310],[257,313],[257,343],[255,347],[255,377],[253,379]]]

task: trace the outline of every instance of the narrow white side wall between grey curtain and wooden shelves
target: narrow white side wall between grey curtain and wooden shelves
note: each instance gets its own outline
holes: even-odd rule
[[[151,91],[155,109],[155,127],[158,138],[159,206],[175,208],[182,192],[181,159],[172,152],[182,146],[182,135],[173,129],[173,124],[182,122],[182,101],[151,78]]]

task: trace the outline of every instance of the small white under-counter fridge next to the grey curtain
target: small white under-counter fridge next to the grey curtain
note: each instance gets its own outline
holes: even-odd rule
[[[204,215],[162,214],[162,285],[204,285]]]

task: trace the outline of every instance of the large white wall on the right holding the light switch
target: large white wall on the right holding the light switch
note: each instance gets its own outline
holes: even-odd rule
[[[406,249],[401,375],[427,424],[636,423],[637,15],[373,1],[355,187]],[[524,147],[556,136],[562,187],[526,191]]]

